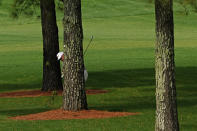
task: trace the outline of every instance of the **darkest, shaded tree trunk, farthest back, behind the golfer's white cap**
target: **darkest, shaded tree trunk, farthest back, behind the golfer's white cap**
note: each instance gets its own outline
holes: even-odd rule
[[[43,35],[43,83],[42,91],[63,89],[59,52],[58,28],[54,0],[40,0]]]

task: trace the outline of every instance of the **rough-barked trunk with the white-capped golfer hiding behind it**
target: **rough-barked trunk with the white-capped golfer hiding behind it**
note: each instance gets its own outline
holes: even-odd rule
[[[64,91],[63,109],[87,109],[84,81],[81,0],[64,0]]]

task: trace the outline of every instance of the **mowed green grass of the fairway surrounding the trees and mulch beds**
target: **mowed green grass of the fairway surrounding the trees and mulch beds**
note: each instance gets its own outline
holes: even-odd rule
[[[40,20],[9,18],[11,0],[0,6],[0,93],[40,89]],[[154,5],[146,0],[82,0],[84,48],[94,36],[85,65],[89,109],[140,112],[140,115],[86,120],[17,121],[9,117],[61,107],[62,98],[0,98],[1,131],[153,131],[155,122]],[[39,11],[38,11],[39,12]],[[38,13],[39,14],[39,13]],[[62,14],[58,11],[62,49]],[[197,130],[197,14],[184,15],[174,4],[176,84],[180,129]]]

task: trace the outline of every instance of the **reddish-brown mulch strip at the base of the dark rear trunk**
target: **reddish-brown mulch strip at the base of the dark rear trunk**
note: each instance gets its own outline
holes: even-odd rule
[[[101,94],[101,93],[107,93],[106,90],[86,90],[86,93],[89,95],[93,94]],[[53,92],[43,92],[40,90],[30,90],[30,91],[17,91],[17,92],[5,92],[0,93],[0,97],[39,97],[39,96],[51,96]],[[62,95],[62,91],[57,91],[58,95]]]

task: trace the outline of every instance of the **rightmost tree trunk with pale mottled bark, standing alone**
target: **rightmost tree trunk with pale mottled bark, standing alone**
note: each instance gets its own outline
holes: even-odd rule
[[[178,131],[172,0],[155,0],[156,121],[155,131]]]

